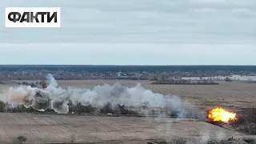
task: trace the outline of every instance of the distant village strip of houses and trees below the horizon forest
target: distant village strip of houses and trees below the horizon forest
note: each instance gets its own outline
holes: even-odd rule
[[[198,77],[222,77],[208,80],[224,80],[230,75],[255,76],[251,71],[86,71],[86,70],[0,70],[0,81],[3,80],[40,80],[45,79],[46,74],[53,74],[54,78],[62,80],[86,80],[86,79],[130,79],[130,80],[166,80]]]

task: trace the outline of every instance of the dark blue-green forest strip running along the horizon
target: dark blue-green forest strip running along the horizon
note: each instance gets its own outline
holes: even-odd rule
[[[256,66],[53,66],[53,65],[30,65],[30,66],[0,66],[0,70],[17,71],[17,70],[69,70],[69,71],[89,71],[89,72],[102,72],[111,71],[148,71],[148,72],[163,72],[163,71],[187,71],[193,72],[197,70],[204,71],[256,71]]]

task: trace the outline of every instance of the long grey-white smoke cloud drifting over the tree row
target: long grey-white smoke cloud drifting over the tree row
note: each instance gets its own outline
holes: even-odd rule
[[[81,102],[83,106],[90,105],[95,108],[102,108],[108,103],[111,106],[158,107],[170,111],[182,111],[190,107],[188,102],[183,102],[178,96],[153,93],[140,84],[131,88],[115,83],[113,86],[108,84],[95,86],[93,90],[77,88],[64,90],[58,87],[52,74],[47,74],[46,78],[50,83],[46,89],[31,86],[10,87],[7,93],[9,102],[26,107],[32,106],[40,111],[50,108],[58,114],[69,112],[69,102],[74,104]]]

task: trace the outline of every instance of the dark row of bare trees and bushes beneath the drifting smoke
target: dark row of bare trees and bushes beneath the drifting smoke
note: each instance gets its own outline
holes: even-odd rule
[[[138,110],[134,109],[128,109],[126,106],[111,106],[110,103],[107,103],[105,106],[102,106],[101,108],[95,108],[94,106],[82,106],[82,103],[68,103],[69,106],[69,112],[68,114],[123,114],[123,115],[131,115],[131,116],[142,116],[142,115],[148,115],[148,116],[156,116],[158,114],[165,114],[166,116],[169,116],[171,118],[178,118],[180,115],[180,111],[178,110],[151,110],[150,108],[147,109],[147,106],[141,106],[138,107]],[[146,113],[143,113],[142,111],[146,110]],[[44,112],[34,110],[33,107],[26,108],[23,105],[19,106],[11,106],[9,103],[5,103],[0,101],[0,112],[7,112],[7,113],[34,113],[34,114],[57,114],[52,109],[47,109]],[[195,111],[189,111],[186,115],[183,115],[184,118],[198,118],[198,114]]]

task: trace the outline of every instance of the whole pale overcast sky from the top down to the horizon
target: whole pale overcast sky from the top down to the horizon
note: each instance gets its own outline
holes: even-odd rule
[[[61,28],[5,28],[59,6]],[[256,65],[256,0],[2,0],[0,64]]]

